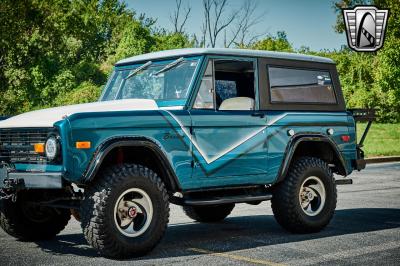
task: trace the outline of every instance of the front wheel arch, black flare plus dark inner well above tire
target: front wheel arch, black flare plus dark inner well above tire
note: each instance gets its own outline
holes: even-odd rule
[[[83,182],[87,184],[93,181],[99,170],[102,167],[111,165],[109,164],[110,162],[118,163],[118,152],[120,151],[123,152],[123,156],[126,156],[126,153],[132,155],[133,152],[145,152],[146,155],[153,159],[154,164],[152,166],[156,169],[152,170],[160,176],[167,190],[169,192],[181,190],[178,178],[162,147],[155,141],[145,137],[116,137],[105,140],[94,152],[94,156],[83,174]],[[117,157],[114,158],[114,155]],[[113,159],[111,160],[111,158]]]

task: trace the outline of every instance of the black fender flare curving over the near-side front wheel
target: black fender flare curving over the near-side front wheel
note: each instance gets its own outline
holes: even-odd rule
[[[155,141],[145,137],[113,137],[102,142],[93,154],[86,171],[83,174],[83,182],[89,183],[98,173],[103,160],[117,147],[145,147],[150,149],[157,156],[157,159],[165,169],[166,177],[174,191],[180,191],[181,187],[178,178],[169,163],[165,152]]]

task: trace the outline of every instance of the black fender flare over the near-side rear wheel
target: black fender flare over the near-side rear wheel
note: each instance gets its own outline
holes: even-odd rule
[[[348,171],[346,169],[346,164],[343,159],[343,156],[340,153],[338,146],[332,139],[328,138],[327,136],[325,136],[323,134],[319,134],[319,133],[301,133],[301,134],[294,135],[289,140],[289,143],[287,144],[286,150],[285,150],[285,155],[284,155],[285,157],[283,159],[283,162],[282,162],[281,167],[278,172],[278,178],[276,180],[276,183],[281,182],[285,179],[286,174],[289,170],[289,166],[292,161],[293,155],[294,155],[297,147],[299,146],[299,144],[304,141],[315,141],[315,142],[328,143],[331,146],[331,148],[333,149],[336,157],[339,159],[340,165],[337,165],[337,167],[342,170],[342,172],[344,173],[345,176],[348,175]]]

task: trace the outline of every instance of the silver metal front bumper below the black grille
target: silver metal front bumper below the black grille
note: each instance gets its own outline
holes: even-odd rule
[[[61,172],[8,172],[0,167],[0,188],[3,189],[60,189],[63,187]]]

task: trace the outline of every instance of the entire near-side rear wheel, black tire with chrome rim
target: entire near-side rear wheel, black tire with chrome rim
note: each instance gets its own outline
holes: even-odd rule
[[[328,225],[336,208],[336,185],[328,164],[314,157],[295,161],[271,200],[275,219],[293,233],[313,233]]]

